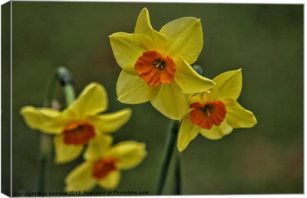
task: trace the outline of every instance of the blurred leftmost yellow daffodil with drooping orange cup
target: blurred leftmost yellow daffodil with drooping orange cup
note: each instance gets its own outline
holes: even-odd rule
[[[98,136],[118,130],[131,116],[126,108],[113,113],[99,114],[107,109],[104,87],[91,83],[66,109],[24,106],[21,114],[33,129],[55,135],[55,162],[66,163],[80,156],[84,146]]]

